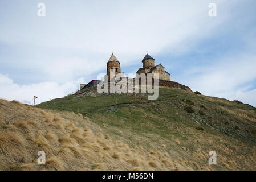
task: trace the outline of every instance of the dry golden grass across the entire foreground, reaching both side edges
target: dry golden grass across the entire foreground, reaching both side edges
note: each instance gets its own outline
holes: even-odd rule
[[[0,170],[213,170],[214,166],[206,164],[209,146],[214,146],[211,150],[217,155],[221,153],[217,163],[223,170],[256,169],[256,147],[238,145],[237,140],[193,133],[195,137],[181,140],[180,146],[180,138],[154,144],[150,137],[156,135],[145,134],[145,138],[132,137],[150,147],[130,146],[124,138],[108,133],[113,129],[110,125],[102,127],[84,119],[82,114],[0,100]],[[212,142],[213,137],[218,144]],[[45,165],[37,164],[36,154],[41,150],[46,152]]]

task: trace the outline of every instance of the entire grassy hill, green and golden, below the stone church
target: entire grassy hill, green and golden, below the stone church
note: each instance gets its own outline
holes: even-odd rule
[[[90,88],[36,107],[0,100],[0,112],[0,169],[256,169],[256,109],[238,101]],[[39,150],[45,166],[35,162]]]

